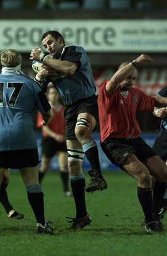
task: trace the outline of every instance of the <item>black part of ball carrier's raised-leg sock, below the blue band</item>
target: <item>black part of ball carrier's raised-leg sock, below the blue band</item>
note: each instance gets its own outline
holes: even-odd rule
[[[97,170],[97,174],[99,174],[98,177],[100,179],[104,179],[100,171],[99,152],[98,152],[97,146],[89,148],[85,152],[85,154],[86,154],[86,157],[88,158],[88,161],[90,162],[92,170]]]

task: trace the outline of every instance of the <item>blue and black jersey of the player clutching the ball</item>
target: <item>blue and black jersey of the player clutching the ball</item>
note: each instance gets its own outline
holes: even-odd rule
[[[46,78],[44,85],[52,81],[58,92],[60,92],[65,106],[70,106],[79,100],[94,95],[96,88],[90,60],[83,47],[78,45],[65,46],[60,60],[77,62],[79,67],[72,76],[58,74],[52,78]]]

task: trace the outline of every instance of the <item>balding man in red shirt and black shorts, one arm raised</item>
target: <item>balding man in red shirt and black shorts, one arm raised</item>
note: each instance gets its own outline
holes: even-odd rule
[[[167,99],[147,95],[133,88],[136,66],[150,56],[141,54],[132,62],[124,62],[102,86],[99,97],[101,147],[109,160],[138,180],[138,198],[145,214],[147,232],[163,230],[159,205],[166,191],[167,166],[143,141],[136,113],[166,107]],[[152,179],[155,184],[152,196]]]

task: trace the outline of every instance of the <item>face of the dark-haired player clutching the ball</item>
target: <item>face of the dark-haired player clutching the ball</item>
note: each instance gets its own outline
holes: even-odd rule
[[[63,47],[63,42],[61,37],[58,38],[57,40],[51,36],[51,35],[47,35],[43,40],[42,40],[42,44],[44,45],[44,48],[47,52],[49,52],[49,54],[53,55],[59,55],[62,51],[62,47]]]

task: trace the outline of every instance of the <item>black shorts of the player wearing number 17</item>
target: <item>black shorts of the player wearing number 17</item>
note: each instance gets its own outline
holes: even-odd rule
[[[0,167],[19,169],[38,165],[37,148],[0,151]]]

